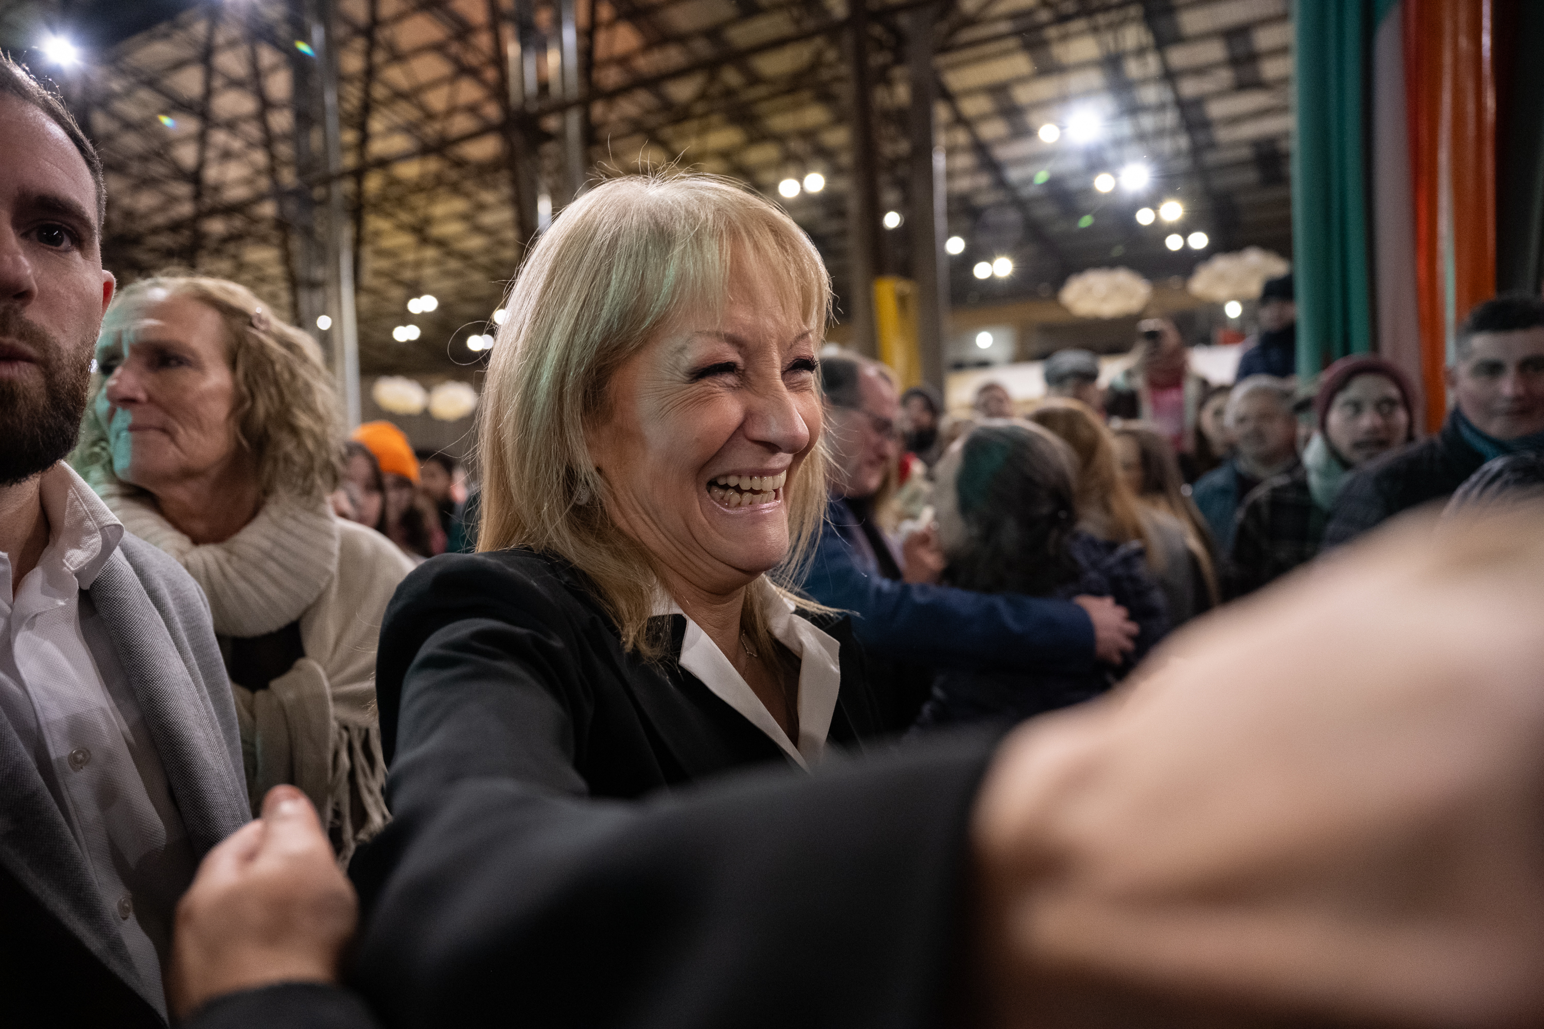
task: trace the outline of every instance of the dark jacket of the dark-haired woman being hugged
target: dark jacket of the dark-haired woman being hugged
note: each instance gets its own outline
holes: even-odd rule
[[[1115,597],[1136,623],[1136,649],[1119,668],[1090,668],[1082,673],[943,671],[933,683],[933,696],[922,708],[917,725],[965,722],[1017,722],[1099,696],[1135,668],[1169,633],[1169,611],[1163,589],[1147,571],[1141,543],[1112,543],[1087,532],[1068,541],[1078,563],[1076,580],[1053,594],[1070,600],[1079,594]]]

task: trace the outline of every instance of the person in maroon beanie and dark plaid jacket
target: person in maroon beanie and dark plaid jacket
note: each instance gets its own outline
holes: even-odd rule
[[[1223,594],[1241,597],[1319,554],[1329,511],[1351,472],[1413,438],[1405,373],[1382,358],[1342,358],[1314,398],[1317,430],[1291,472],[1266,480],[1238,509]]]

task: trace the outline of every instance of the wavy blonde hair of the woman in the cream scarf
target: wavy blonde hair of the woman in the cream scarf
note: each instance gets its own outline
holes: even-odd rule
[[[252,290],[205,276],[141,279],[113,299],[99,339],[128,332],[141,310],[173,296],[204,304],[225,327],[236,393],[230,418],[236,444],[256,458],[262,495],[312,503],[330,494],[343,461],[343,406],[332,373],[317,341],[275,318]],[[105,380],[94,380],[71,464],[94,488],[134,491],[113,472],[107,426],[96,412]]]

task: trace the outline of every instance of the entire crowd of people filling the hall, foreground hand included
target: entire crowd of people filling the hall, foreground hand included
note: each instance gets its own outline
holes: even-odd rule
[[[1158,318],[951,415],[823,350],[781,208],[618,177],[468,497],[245,287],[119,288],[105,210],[0,59],[17,1024],[1544,1014],[1539,298],[1425,440],[1377,358],[1286,378],[1291,281],[1231,389]]]

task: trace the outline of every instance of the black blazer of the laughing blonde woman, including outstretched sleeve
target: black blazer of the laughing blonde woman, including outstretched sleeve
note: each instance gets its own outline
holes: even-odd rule
[[[862,657],[824,625],[831,734],[862,745]],[[350,867],[346,978],[392,1026],[940,1020],[991,739],[804,774],[669,659],[624,654],[587,580],[531,552],[423,565],[378,662],[394,819]],[[329,1020],[286,1021],[300,1012]],[[281,986],[196,1024],[371,1021],[343,990]]]

